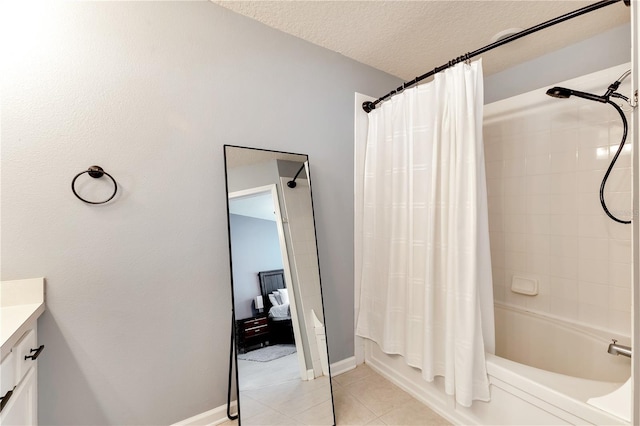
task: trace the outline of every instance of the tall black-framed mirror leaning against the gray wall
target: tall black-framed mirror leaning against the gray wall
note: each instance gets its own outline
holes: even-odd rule
[[[308,157],[224,154],[239,423],[334,425]]]

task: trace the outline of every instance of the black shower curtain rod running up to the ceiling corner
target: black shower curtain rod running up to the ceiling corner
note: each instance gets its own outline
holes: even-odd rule
[[[419,77],[414,78],[413,80],[403,83],[402,86],[398,87],[396,90],[392,90],[391,92],[387,93],[386,95],[384,95],[381,98],[378,98],[377,100],[375,100],[374,102],[371,101],[366,101],[362,103],[362,109],[364,109],[364,111],[366,113],[371,112],[372,110],[376,109],[376,105],[378,105],[380,102],[386,101],[387,99],[389,99],[391,96],[397,94],[397,93],[401,93],[404,89],[406,89],[407,87],[411,87],[413,85],[418,84],[418,82],[424,80],[427,77],[431,77],[434,74],[439,73],[440,71],[446,70],[449,67],[452,67],[453,65],[456,65],[462,61],[467,61],[475,56],[481,55],[485,52],[488,52],[489,50],[495,49],[496,47],[502,46],[503,44],[507,44],[507,43],[511,43],[514,40],[518,40],[519,38],[522,38],[524,36],[527,36],[529,34],[533,34],[535,32],[538,32],[540,30],[543,30],[545,28],[549,28],[553,25],[559,24],[561,22],[564,21],[568,21],[569,19],[572,18],[576,18],[580,15],[584,15],[585,13],[589,13],[589,12],[593,12],[594,10],[598,10],[600,8],[603,8],[605,6],[609,6],[611,4],[614,3],[618,3],[620,1],[623,1],[624,4],[626,6],[630,6],[631,5],[631,0],[602,0],[593,4],[590,4],[588,6],[585,6],[581,9],[577,9],[574,10],[573,12],[569,12],[566,13],[564,15],[558,16],[557,18],[553,18],[549,21],[543,22],[541,24],[535,25],[531,28],[527,28],[526,30],[522,30],[519,33],[516,34],[512,34],[508,37],[503,38],[502,40],[498,40],[496,42],[493,42],[491,44],[488,44],[484,47],[481,47],[478,50],[474,50],[473,52],[469,52],[466,53],[462,56],[458,56],[456,59],[453,59],[449,62],[447,62],[444,65],[440,65],[439,67],[435,67],[432,71],[429,71],[426,74],[422,74]]]

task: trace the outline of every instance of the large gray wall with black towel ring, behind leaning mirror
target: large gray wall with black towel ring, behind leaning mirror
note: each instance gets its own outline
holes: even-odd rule
[[[29,7],[2,40],[1,272],[47,278],[40,423],[224,404],[225,143],[309,155],[330,357],[352,356],[354,92],[400,81],[209,2]],[[92,164],[107,205],[71,193]]]

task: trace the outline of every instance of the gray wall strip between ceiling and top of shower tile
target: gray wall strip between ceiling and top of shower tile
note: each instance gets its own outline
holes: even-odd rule
[[[543,30],[544,31],[544,30]],[[500,49],[500,48],[498,48]],[[631,60],[631,25],[605,31],[563,49],[485,76],[484,103],[545,88]]]

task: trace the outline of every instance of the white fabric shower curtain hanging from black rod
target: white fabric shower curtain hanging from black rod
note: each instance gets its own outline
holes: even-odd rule
[[[369,113],[356,333],[470,406],[488,401],[493,285],[482,63],[460,63]]]

